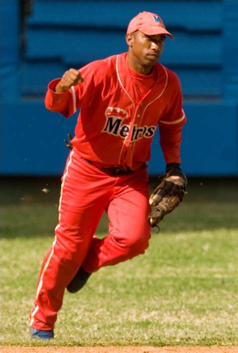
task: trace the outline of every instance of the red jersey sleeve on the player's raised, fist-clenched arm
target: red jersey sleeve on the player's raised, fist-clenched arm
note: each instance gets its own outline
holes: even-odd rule
[[[100,84],[97,67],[98,62],[92,62],[82,67],[79,71],[84,81],[65,92],[55,92],[55,87],[61,78],[51,81],[45,97],[46,108],[69,117],[77,109],[90,106],[95,89]]]

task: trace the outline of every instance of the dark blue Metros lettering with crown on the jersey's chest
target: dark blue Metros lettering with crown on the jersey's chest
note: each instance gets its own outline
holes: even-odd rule
[[[123,124],[123,120],[128,115],[128,112],[124,109],[108,106],[105,110],[106,123],[102,132],[126,139],[132,129],[131,141],[137,141],[143,137],[151,138],[155,134],[156,126],[138,127],[135,124],[133,127],[130,127],[128,124]]]

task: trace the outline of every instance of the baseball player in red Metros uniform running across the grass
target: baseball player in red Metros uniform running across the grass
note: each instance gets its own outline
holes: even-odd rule
[[[162,19],[142,12],[129,24],[127,53],[91,62],[80,71],[71,68],[49,83],[48,109],[65,117],[79,108],[80,113],[62,177],[59,222],[30,315],[32,337],[54,337],[65,288],[77,292],[102,266],[132,259],[148,248],[151,226],[167,207],[158,201],[161,187],[149,203],[147,162],[157,126],[166,188],[173,185],[174,190],[177,180],[185,180],[179,168],[186,121],[180,83],[158,63],[166,36],[173,38]],[[167,213],[181,199],[173,199]],[[104,210],[108,235],[98,239],[94,233]]]

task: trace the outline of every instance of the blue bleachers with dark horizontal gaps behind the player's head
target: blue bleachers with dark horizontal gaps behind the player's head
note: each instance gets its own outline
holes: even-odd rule
[[[167,39],[161,62],[179,71],[183,94],[219,95],[222,53],[221,3],[218,1],[181,1],[179,6],[176,1],[62,1],[58,6],[53,0],[35,1],[33,15],[27,22],[22,93],[45,92],[46,82],[51,77],[49,60],[50,66],[55,63],[56,70],[51,71],[55,77],[68,67],[80,68],[90,61],[126,51],[127,25],[143,10],[158,12],[175,36],[174,41]],[[32,80],[38,65],[42,85]],[[193,69],[195,84],[191,84]]]

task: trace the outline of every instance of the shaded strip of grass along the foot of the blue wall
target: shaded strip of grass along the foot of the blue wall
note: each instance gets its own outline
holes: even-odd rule
[[[151,188],[156,179],[150,179]],[[7,178],[1,180],[2,238],[54,237],[58,221],[60,178]],[[237,178],[190,178],[184,201],[160,223],[163,233],[232,229],[238,218]],[[106,233],[104,213],[97,234]],[[156,233],[152,229],[152,233]]]

